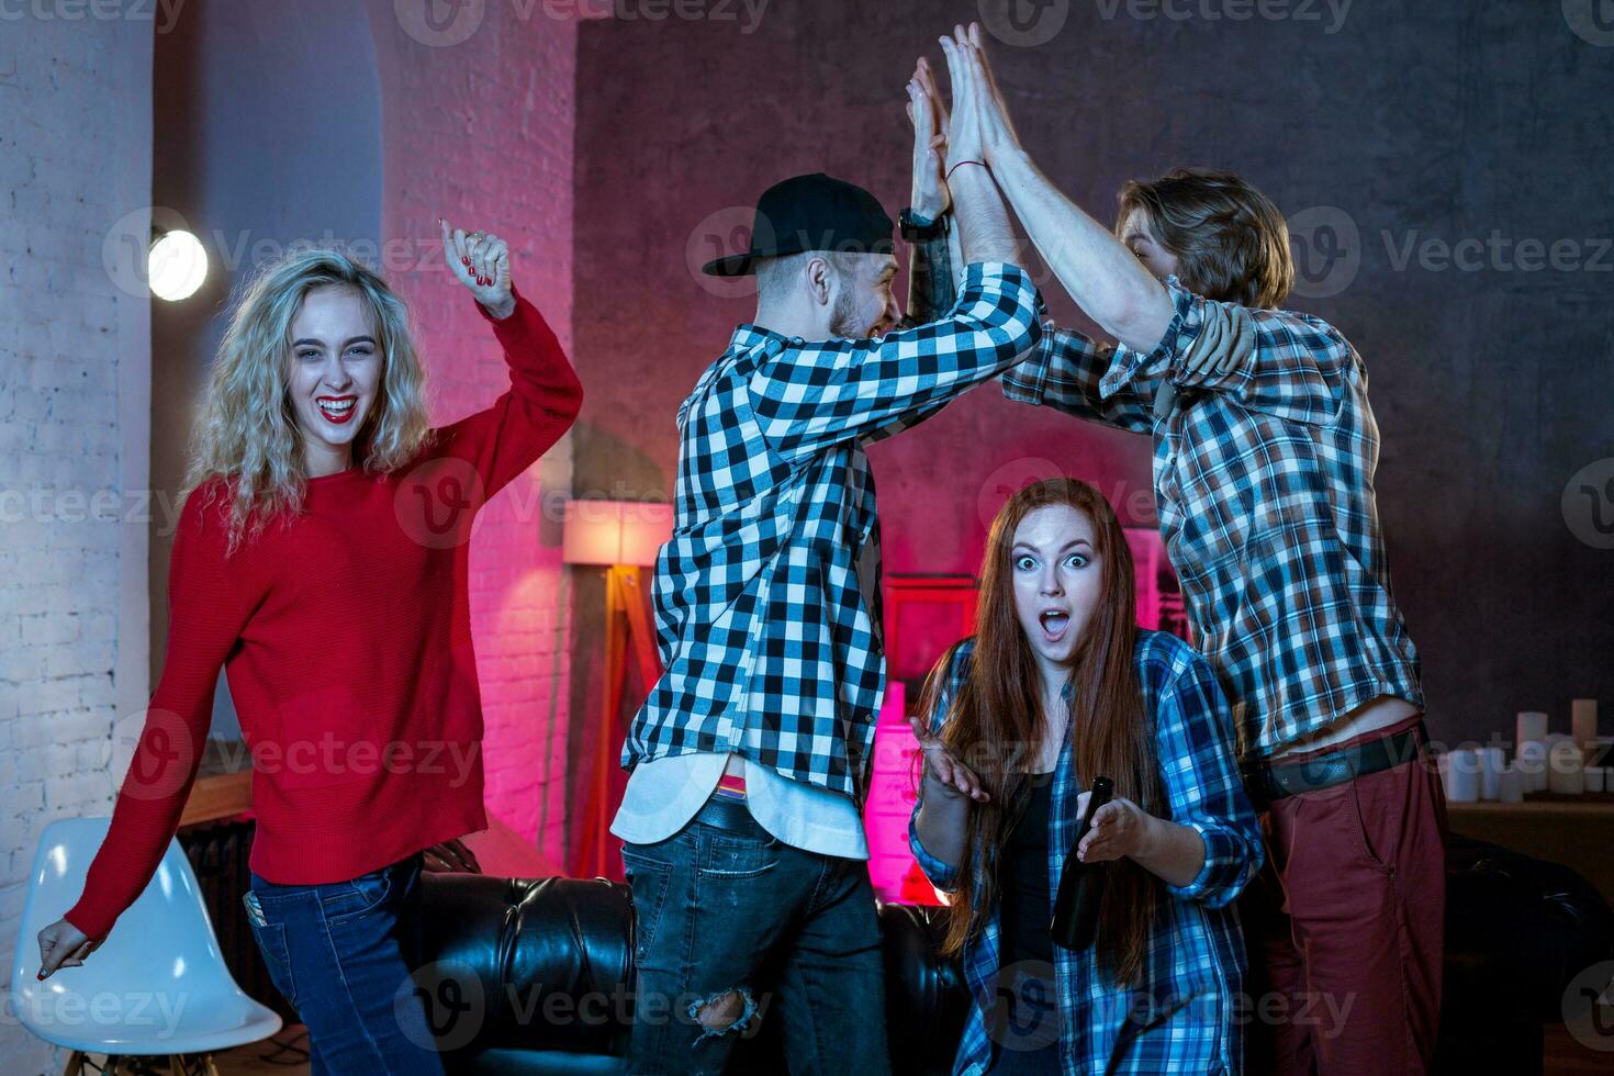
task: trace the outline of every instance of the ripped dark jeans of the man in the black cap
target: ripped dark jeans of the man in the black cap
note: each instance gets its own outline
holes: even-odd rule
[[[751,821],[621,849],[636,916],[629,1073],[721,1073],[776,1028],[791,1073],[889,1073],[884,965],[862,860]]]

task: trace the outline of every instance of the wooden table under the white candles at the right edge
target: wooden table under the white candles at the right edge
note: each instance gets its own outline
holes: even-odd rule
[[[1562,863],[1614,905],[1614,797],[1448,803],[1453,832]]]

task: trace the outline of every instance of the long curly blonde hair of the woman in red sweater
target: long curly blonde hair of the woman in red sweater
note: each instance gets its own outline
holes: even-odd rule
[[[386,281],[336,250],[297,250],[271,261],[231,305],[184,482],[184,497],[228,489],[231,552],[302,510],[308,476],[287,381],[291,324],[308,292],[326,286],[365,298],[383,357],[381,389],[353,439],[353,461],[368,474],[386,474],[413,460],[431,436],[408,308]]]

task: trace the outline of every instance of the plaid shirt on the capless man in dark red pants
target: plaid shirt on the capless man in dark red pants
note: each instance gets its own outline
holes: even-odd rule
[[[1265,758],[1378,695],[1424,708],[1374,500],[1378,424],[1356,348],[1320,318],[1246,308],[1256,347],[1225,373],[1183,357],[1210,300],[1167,281],[1152,352],[1046,326],[1010,400],[1152,434],[1154,498],[1194,637]]]

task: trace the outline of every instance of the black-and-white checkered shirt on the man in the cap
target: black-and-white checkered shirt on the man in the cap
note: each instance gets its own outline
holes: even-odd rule
[[[884,694],[863,445],[1023,358],[1038,303],[1022,269],[978,263],[946,318],[884,337],[734,331],[678,411],[676,519],[655,561],[667,671],[625,768],[738,752],[862,802]]]

